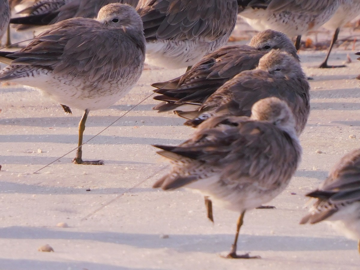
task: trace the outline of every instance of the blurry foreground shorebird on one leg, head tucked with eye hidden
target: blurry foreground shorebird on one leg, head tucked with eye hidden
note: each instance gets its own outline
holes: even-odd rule
[[[173,166],[154,188],[196,189],[240,213],[228,258],[254,258],[236,254],[244,214],[279,195],[301,159],[295,121],[285,102],[262,99],[251,111],[251,117],[218,116],[204,121],[179,146],[155,145]]]

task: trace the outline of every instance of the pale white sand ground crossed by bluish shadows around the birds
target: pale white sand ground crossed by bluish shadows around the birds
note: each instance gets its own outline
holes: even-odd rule
[[[298,225],[307,211],[304,194],[325,179],[339,158],[360,146],[355,52],[335,49],[329,64],[343,63],[347,54],[353,62],[327,70],[312,68],[325,51],[300,53],[307,75],[314,77],[312,111],[301,136],[303,161],[287,190],[271,202],[275,210],[245,216],[238,252],[262,257],[256,260],[219,256],[230,249],[238,213],[215,206],[213,225],[201,195],[151,188],[167,170],[151,144],[179,144],[193,132],[174,114],[152,111],[157,103],[152,98],[83,147],[84,159],[103,159],[104,166],[75,165],[72,152],[32,174],[76,147],[82,112],[73,109],[65,115],[37,91],[3,86],[0,269],[359,269],[356,241],[326,224]],[[151,94],[150,82],[183,72],[144,71],[126,98],[90,112],[85,140]],[[69,228],[57,227],[59,222]],[[44,244],[54,252],[37,251]]]

